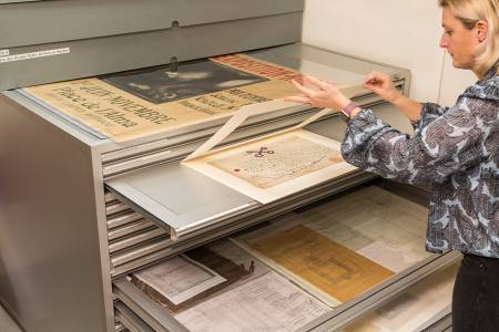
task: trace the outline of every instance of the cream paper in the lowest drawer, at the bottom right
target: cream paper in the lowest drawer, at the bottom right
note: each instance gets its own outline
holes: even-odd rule
[[[358,319],[345,332],[422,331],[450,313],[459,264],[425,278],[388,304]]]

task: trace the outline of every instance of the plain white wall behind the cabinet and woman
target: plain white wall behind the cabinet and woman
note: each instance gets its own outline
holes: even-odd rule
[[[306,0],[303,41],[407,68],[411,97],[449,103],[475,79],[446,65],[440,20],[437,0]]]

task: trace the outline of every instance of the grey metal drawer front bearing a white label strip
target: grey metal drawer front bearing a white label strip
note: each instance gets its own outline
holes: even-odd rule
[[[0,46],[9,53],[0,56],[0,90],[297,42],[301,24],[302,12],[292,12],[92,39]],[[273,33],[267,33],[269,29]]]

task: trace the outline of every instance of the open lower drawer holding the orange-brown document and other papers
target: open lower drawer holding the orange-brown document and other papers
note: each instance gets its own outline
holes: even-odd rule
[[[360,185],[129,272],[116,312],[138,331],[339,329],[459,259],[425,251],[427,208],[407,193]]]

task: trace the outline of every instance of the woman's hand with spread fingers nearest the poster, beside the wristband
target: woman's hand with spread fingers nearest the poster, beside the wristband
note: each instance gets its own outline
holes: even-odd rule
[[[298,82],[293,81],[293,84],[302,92],[302,94],[288,96],[284,100],[287,102],[304,103],[315,107],[329,107],[334,110],[342,110],[350,102],[350,100],[347,98],[333,83],[308,75],[304,76],[304,83],[305,84],[302,85]]]

